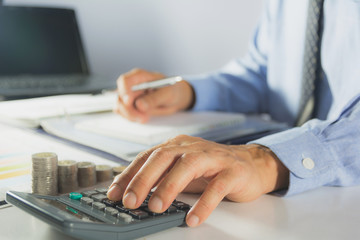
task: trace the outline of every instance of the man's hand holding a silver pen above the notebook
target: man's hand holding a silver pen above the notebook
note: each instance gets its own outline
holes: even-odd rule
[[[121,75],[117,80],[119,97],[115,112],[129,120],[145,123],[151,116],[188,109],[195,96],[191,85],[184,80],[154,90],[131,90],[134,85],[162,78],[165,78],[163,74],[142,69],[133,69]]]

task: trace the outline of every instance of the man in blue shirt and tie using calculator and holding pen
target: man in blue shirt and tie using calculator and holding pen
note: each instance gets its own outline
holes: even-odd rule
[[[248,54],[211,74],[132,92],[161,79],[119,77],[117,112],[138,122],[177,111],[268,113],[293,128],[247,145],[178,136],[141,154],[110,186],[110,199],[165,211],[180,192],[201,193],[186,222],[205,221],[223,198],[251,201],[360,183],[360,2],[269,0]]]

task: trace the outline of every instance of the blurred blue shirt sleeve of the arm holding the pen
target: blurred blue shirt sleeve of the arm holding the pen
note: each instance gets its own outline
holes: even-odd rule
[[[244,58],[231,61],[217,72],[184,77],[195,91],[194,111],[267,112],[269,24],[264,9]]]

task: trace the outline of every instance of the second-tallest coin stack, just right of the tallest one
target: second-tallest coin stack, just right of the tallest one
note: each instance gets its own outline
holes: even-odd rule
[[[78,188],[77,162],[62,160],[58,162],[59,193],[74,192]]]

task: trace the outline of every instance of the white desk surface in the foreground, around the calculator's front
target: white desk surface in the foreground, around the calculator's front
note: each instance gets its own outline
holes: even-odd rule
[[[193,204],[196,195],[178,199]],[[320,188],[297,196],[223,201],[196,228],[172,228],[141,239],[358,239],[360,187]],[[0,237],[73,239],[16,207],[0,210]]]

